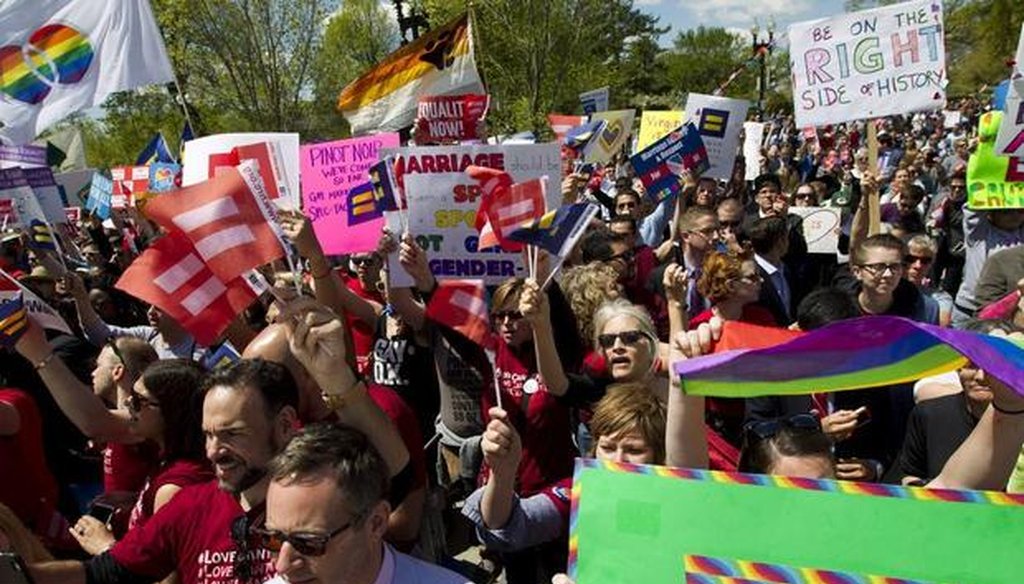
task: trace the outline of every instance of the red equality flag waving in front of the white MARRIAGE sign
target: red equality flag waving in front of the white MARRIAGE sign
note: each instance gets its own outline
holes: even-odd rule
[[[478,249],[501,245],[505,251],[519,251],[522,244],[504,234],[539,219],[547,210],[544,183],[539,180],[512,182],[507,172],[482,166],[470,166],[466,173],[480,184],[480,209],[476,228],[480,232]]]

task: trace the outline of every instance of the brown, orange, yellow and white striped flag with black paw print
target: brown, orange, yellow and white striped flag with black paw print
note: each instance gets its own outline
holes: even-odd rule
[[[338,110],[352,134],[397,131],[413,124],[421,95],[484,93],[473,56],[468,14],[389,54],[348,84]]]

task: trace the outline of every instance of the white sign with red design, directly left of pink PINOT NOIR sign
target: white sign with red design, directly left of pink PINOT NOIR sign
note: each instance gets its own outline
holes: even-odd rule
[[[248,151],[245,147],[268,142],[273,144],[272,152],[260,152],[244,158],[260,160],[260,175],[266,184],[267,192],[274,203],[283,209],[299,208],[299,134],[251,132],[233,134],[214,134],[194,138],[185,142],[184,155],[181,157],[181,185],[190,186],[207,180],[214,175],[214,170],[221,166],[217,164],[218,157],[226,157],[223,166],[236,166],[242,162],[242,156]],[[242,153],[233,153],[243,149]],[[211,161],[212,159],[212,161]],[[267,167],[270,168],[267,168]]]

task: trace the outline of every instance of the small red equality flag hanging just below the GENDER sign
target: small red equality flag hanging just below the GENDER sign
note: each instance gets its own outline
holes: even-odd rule
[[[486,290],[481,280],[440,280],[427,303],[427,318],[486,348],[492,344]]]

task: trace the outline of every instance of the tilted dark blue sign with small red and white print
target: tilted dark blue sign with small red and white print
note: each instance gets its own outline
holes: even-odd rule
[[[689,170],[696,178],[708,170],[708,151],[693,123],[685,124],[630,159],[633,170],[654,201],[677,195],[680,176]]]

